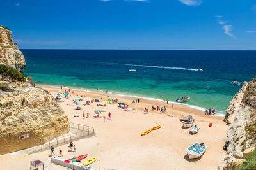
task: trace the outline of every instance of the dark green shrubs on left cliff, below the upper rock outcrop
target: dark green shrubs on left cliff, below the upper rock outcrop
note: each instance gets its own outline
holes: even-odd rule
[[[24,75],[17,71],[17,69],[5,66],[4,64],[0,64],[0,76],[2,76],[2,80],[4,80],[4,78],[10,78],[12,81],[26,82]]]

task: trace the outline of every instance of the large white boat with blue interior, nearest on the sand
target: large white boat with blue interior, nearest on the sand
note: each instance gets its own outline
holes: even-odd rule
[[[199,145],[197,142],[189,146],[186,150],[188,153],[189,159],[195,159],[195,158],[201,157],[204,154],[206,148],[207,146],[204,146],[204,143],[201,143]]]

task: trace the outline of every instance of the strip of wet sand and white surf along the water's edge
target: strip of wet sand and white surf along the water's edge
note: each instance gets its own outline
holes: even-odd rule
[[[56,92],[58,90],[60,90],[60,86],[57,86],[57,85],[42,85],[42,84],[37,84],[39,87],[42,87],[43,89],[45,88],[46,90],[50,90],[50,91],[55,91]],[[163,100],[161,99],[154,99],[154,98],[150,98],[150,97],[140,97],[140,96],[132,96],[132,95],[125,95],[125,94],[115,94],[115,93],[112,93],[112,92],[108,92],[108,94],[106,94],[106,92],[103,92],[103,91],[97,91],[97,90],[92,90],[92,89],[87,89],[87,92],[82,89],[82,88],[79,88],[79,87],[63,87],[63,89],[68,89],[70,88],[71,90],[73,90],[74,92],[78,92],[79,95],[81,95],[81,93],[83,93],[83,95],[86,94],[86,97],[89,95],[89,96],[92,96],[92,97],[100,97],[100,96],[106,96],[106,97],[118,97],[118,99],[122,100],[129,100],[129,101],[133,101],[135,100],[135,98],[140,98],[143,99],[143,103],[147,103],[147,104],[150,104],[147,106],[147,108],[149,108],[149,110],[151,110],[151,106],[152,104],[154,106],[157,106],[157,105],[165,105],[166,108],[169,108],[169,110],[172,111],[172,113],[169,113],[169,114],[173,114],[173,113],[176,113],[174,114],[174,116],[177,116],[177,113],[184,113],[186,115],[186,113],[191,113],[192,115],[197,115],[197,116],[200,116],[200,117],[211,117],[211,118],[216,118],[216,119],[219,119],[219,120],[222,120],[223,117],[225,117],[224,114],[221,114],[221,113],[216,113],[215,115],[205,115],[205,110],[204,108],[203,109],[198,109],[200,107],[198,106],[191,106],[189,104],[182,104],[182,103],[177,103],[177,102],[169,102],[168,104],[166,103],[163,103]],[[174,103],[174,108],[172,108],[172,103]],[[169,112],[169,111],[168,111]],[[163,114],[163,113],[162,113]],[[165,113],[164,113],[165,114]]]

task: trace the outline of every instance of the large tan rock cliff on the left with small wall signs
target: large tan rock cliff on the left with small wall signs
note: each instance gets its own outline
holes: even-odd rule
[[[0,61],[19,71],[26,66],[22,52],[13,45],[12,32],[1,27]],[[0,81],[0,155],[40,145],[69,132],[68,117],[51,94],[37,87],[31,78],[26,82],[12,81],[6,74],[9,72],[4,71],[0,70],[0,77],[6,80]],[[16,72],[13,75],[19,73]]]

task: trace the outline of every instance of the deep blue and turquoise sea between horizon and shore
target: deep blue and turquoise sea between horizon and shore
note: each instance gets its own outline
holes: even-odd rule
[[[256,74],[256,51],[21,50],[35,83],[108,90],[216,108],[225,113],[241,86]],[[196,69],[203,71],[195,71]],[[129,71],[136,69],[137,71]],[[209,89],[207,89],[209,87]]]

